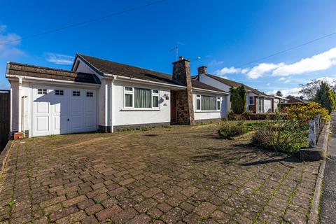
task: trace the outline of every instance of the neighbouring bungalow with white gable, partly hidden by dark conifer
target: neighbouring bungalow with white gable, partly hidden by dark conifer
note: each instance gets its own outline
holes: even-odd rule
[[[239,87],[242,84],[209,74],[207,72],[207,66],[200,66],[198,68],[198,75],[195,76],[195,79],[199,80],[201,83],[206,83],[207,85],[211,85],[225,92],[230,92],[231,87]],[[273,97],[265,94],[265,92],[260,92],[253,87],[249,87],[247,85],[244,85],[244,87],[246,90],[246,111],[251,111],[252,113],[274,112]],[[230,97],[227,102],[228,111],[231,111]]]

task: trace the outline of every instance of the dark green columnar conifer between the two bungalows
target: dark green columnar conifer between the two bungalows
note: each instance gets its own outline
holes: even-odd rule
[[[230,101],[233,113],[241,114],[246,109],[246,90],[244,85],[230,88]]]

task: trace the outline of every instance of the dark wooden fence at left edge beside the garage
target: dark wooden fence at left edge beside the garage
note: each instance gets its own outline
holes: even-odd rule
[[[8,142],[10,132],[10,90],[0,90],[0,152]]]

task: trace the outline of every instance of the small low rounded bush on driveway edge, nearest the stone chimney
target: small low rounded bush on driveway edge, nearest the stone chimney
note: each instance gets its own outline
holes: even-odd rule
[[[247,131],[243,120],[231,120],[223,122],[223,126],[218,130],[218,134],[224,139],[233,139],[233,137],[237,137]]]

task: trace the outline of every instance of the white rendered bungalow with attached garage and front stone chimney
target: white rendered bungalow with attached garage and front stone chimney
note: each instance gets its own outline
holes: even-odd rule
[[[113,132],[228,116],[228,92],[190,77],[180,57],[172,75],[76,55],[71,71],[8,62],[11,134]]]

